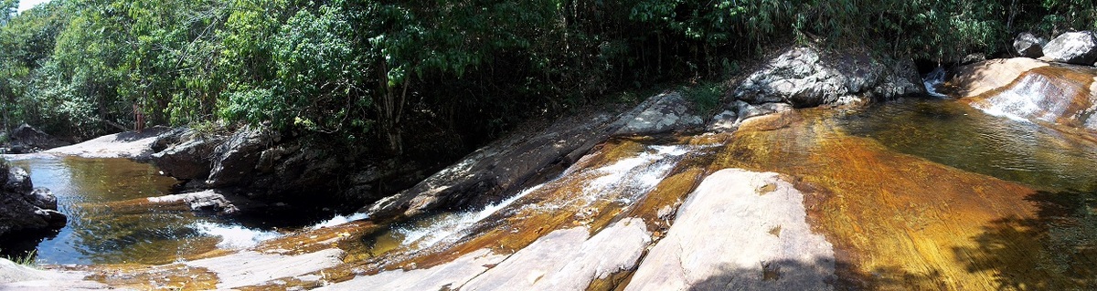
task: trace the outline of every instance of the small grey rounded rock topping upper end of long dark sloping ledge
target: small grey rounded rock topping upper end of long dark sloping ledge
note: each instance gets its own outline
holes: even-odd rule
[[[690,113],[689,103],[678,92],[670,92],[648,98],[636,106],[632,119],[625,120],[624,127],[614,135],[655,135],[669,131],[681,131],[700,126],[700,116]]]

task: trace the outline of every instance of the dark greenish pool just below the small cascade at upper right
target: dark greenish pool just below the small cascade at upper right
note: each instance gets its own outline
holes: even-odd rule
[[[1097,144],[948,100],[906,100],[838,125],[901,153],[1049,191],[1097,193]]]

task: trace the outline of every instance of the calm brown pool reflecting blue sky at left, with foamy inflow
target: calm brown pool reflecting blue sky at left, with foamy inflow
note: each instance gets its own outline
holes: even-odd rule
[[[108,202],[170,194],[176,181],[125,159],[15,156],[35,187],[49,188],[68,225],[37,243],[43,264],[166,264],[217,247],[239,248],[278,236],[188,210],[114,209]],[[22,247],[33,248],[31,245]],[[16,247],[18,246],[10,246]]]

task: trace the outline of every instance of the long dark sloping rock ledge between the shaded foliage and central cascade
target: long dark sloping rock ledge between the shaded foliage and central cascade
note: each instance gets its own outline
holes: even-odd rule
[[[412,217],[439,208],[460,209],[501,199],[587,154],[613,136],[697,130],[701,118],[678,93],[652,96],[621,114],[602,108],[557,119],[500,139],[436,173],[415,187],[363,208],[371,218]]]

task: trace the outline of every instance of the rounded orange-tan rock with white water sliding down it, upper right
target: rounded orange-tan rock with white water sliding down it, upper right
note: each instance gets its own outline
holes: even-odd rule
[[[1028,58],[962,67],[955,95],[992,115],[1097,130],[1097,69]]]

